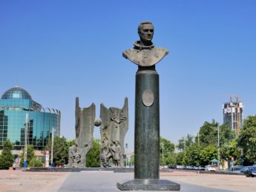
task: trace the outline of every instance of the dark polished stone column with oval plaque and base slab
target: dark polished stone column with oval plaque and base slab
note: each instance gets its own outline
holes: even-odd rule
[[[180,190],[160,179],[159,76],[154,67],[139,67],[136,75],[134,180],[117,183],[120,190]]]

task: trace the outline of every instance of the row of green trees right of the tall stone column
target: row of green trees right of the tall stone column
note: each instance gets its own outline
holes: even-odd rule
[[[237,137],[229,124],[220,125],[212,120],[204,122],[197,136],[188,134],[179,139],[176,145],[179,152],[174,151],[174,144],[171,142],[163,146],[164,150],[160,142],[160,162],[165,165],[208,165],[211,159],[218,159],[218,148],[220,148],[220,165],[222,166],[225,161],[230,162],[232,157],[234,165],[254,165],[256,163],[256,116],[249,116],[244,120]],[[171,150],[168,150],[169,148]]]

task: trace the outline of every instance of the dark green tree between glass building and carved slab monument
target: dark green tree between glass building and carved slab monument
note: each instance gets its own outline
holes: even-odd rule
[[[47,143],[45,150],[51,150],[51,141]],[[51,153],[49,158],[51,159]],[[56,136],[53,140],[53,165],[67,165],[68,164],[68,142],[63,136]]]

